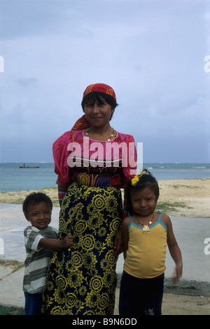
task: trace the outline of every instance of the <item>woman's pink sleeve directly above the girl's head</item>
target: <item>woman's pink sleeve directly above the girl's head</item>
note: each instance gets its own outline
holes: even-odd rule
[[[123,167],[123,188],[126,187],[127,182],[137,175],[137,149],[135,147],[134,137],[132,135],[125,135],[125,142],[127,143],[127,166]]]

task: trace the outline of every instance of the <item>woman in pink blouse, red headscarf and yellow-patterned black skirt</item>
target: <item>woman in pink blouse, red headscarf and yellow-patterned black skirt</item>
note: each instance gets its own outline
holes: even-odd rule
[[[114,241],[123,218],[120,188],[131,177],[131,160],[137,160],[134,147],[128,159],[127,146],[134,145],[134,138],[110,126],[117,106],[110,86],[88,86],[85,115],[53,145],[62,203],[59,239],[70,233],[73,246],[52,257],[43,293],[45,314],[113,314]]]

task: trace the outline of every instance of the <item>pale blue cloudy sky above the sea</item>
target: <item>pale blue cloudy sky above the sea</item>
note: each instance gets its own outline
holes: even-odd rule
[[[209,163],[209,22],[209,0],[0,0],[0,162],[53,162],[106,83],[145,163]]]

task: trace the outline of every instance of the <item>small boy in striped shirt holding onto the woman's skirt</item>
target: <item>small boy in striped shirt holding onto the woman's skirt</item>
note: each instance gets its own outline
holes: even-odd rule
[[[57,240],[57,229],[48,226],[51,222],[52,201],[46,194],[29,194],[22,210],[26,219],[31,222],[24,231],[27,253],[23,279],[25,315],[38,315],[41,314],[43,286],[52,249],[69,248],[73,244],[73,238],[68,234],[63,240]]]

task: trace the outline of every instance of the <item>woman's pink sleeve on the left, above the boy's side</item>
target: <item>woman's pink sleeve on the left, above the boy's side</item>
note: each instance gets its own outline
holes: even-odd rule
[[[58,175],[56,183],[60,186],[69,187],[70,184],[70,168],[67,163],[69,152],[67,151],[67,146],[72,141],[71,136],[72,132],[66,131],[52,145],[55,173]]]

